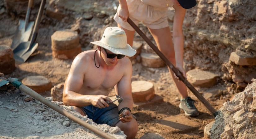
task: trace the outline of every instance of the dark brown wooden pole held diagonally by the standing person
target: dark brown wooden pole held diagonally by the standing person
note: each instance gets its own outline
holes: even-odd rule
[[[128,17],[127,22],[134,28],[134,30],[146,41],[146,43],[155,51],[155,53],[165,62],[165,64],[172,69],[176,76],[184,82],[184,84],[191,90],[191,92],[204,104],[204,106],[213,114],[217,116],[218,112],[213,108],[213,106],[192,86],[187,79],[182,75],[182,73],[173,66],[173,64],[164,56],[163,53],[153,44],[148,37],[137,27],[135,23]]]

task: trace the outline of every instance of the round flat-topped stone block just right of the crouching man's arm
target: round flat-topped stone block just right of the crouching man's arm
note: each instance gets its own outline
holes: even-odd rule
[[[155,95],[154,84],[147,81],[132,82],[132,98],[134,103],[145,102],[152,99]]]

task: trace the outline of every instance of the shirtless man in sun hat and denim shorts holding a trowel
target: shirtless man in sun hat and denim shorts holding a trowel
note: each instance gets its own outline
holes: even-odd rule
[[[128,138],[134,138],[138,127],[131,113],[132,64],[128,57],[136,50],[126,39],[123,29],[107,27],[100,41],[91,42],[98,50],[82,52],[74,59],[64,85],[63,103],[97,124],[118,126]],[[116,93],[124,99],[119,106],[107,97],[116,84]],[[126,116],[119,119],[121,112]]]

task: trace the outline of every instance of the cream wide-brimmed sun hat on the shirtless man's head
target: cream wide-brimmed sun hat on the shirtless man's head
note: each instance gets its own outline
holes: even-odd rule
[[[123,29],[119,27],[107,27],[103,33],[101,40],[91,42],[108,49],[112,53],[121,54],[132,57],[136,54],[136,50],[127,44],[126,34]]]

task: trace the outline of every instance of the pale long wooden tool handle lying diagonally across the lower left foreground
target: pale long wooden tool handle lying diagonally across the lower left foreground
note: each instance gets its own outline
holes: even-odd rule
[[[39,95],[37,92],[30,89],[28,86],[25,86],[24,84],[20,83],[19,81],[15,80],[13,78],[8,78],[7,80],[9,82],[11,82],[14,86],[16,86],[16,87],[19,86],[21,91],[24,91],[25,93],[27,93],[28,95],[30,95],[34,99],[44,103],[45,105],[52,108],[56,112],[59,112],[63,116],[66,116],[67,118],[75,121],[76,123],[82,125],[83,127],[88,128],[92,132],[100,135],[101,137],[104,137],[106,139],[115,139],[114,137],[112,137],[112,136],[108,135],[107,133],[99,130],[98,128],[86,123],[85,121],[81,120],[80,118],[74,116],[73,114],[67,112],[66,110],[62,109],[61,107],[59,107],[59,106],[55,105],[54,103],[50,102],[49,100],[45,99],[43,96]]]

